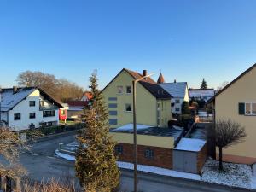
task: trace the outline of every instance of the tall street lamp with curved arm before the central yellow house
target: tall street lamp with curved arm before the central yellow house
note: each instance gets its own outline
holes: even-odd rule
[[[134,155],[134,192],[137,192],[137,119],[136,119],[136,84],[142,79],[152,76],[154,73],[143,76],[140,79],[132,81],[132,96],[133,96],[133,155]]]

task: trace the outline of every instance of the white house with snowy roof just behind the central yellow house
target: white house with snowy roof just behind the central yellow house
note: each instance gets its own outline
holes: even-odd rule
[[[183,102],[189,102],[189,90],[187,82],[161,83],[160,86],[166,90],[173,98],[172,113],[182,114]]]

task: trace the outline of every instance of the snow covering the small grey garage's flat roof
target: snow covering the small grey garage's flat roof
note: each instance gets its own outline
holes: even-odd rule
[[[177,150],[183,151],[195,151],[198,152],[207,142],[202,139],[192,139],[192,138],[182,138],[179,143],[177,143]]]

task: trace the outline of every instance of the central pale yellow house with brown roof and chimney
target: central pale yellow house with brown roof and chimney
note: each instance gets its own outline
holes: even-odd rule
[[[132,81],[147,74],[122,69],[102,90],[108,107],[109,125],[117,128],[130,124],[132,119]],[[172,96],[153,79],[147,78],[137,83],[137,124],[167,127],[172,119]]]

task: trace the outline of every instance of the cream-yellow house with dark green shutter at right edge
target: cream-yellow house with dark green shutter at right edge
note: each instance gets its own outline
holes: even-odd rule
[[[245,126],[245,142],[224,149],[224,160],[256,163],[256,64],[220,90],[212,100],[216,119],[231,119]]]

